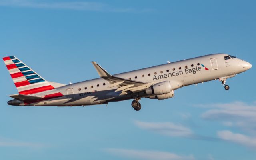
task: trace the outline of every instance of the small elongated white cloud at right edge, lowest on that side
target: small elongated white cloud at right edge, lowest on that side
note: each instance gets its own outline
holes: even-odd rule
[[[256,138],[249,137],[244,134],[234,134],[229,130],[218,131],[217,135],[222,140],[256,148]]]

